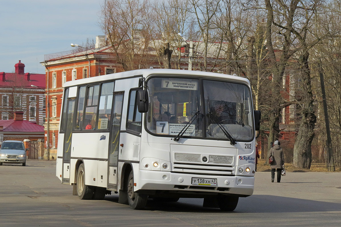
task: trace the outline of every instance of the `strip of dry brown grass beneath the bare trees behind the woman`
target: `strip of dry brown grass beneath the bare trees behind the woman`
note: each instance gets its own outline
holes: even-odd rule
[[[269,165],[264,165],[265,161],[268,161],[267,159],[258,159],[257,164],[257,171],[258,172],[270,172],[271,168]],[[328,172],[326,164],[320,163],[314,163],[311,164],[310,169],[302,169],[302,168],[296,168],[291,163],[285,163],[285,171],[286,172]],[[341,172],[340,167],[336,167],[335,172]]]

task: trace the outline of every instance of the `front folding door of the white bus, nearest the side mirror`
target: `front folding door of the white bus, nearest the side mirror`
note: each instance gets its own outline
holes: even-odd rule
[[[123,105],[123,93],[114,93],[113,108],[111,114],[111,124],[109,134],[109,149],[108,149],[108,189],[117,190],[117,176],[118,176],[118,150],[120,141],[121,116]]]

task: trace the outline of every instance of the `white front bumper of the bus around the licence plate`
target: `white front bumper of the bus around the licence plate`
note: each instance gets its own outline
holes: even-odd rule
[[[139,170],[139,176],[134,176],[138,190],[169,190],[178,192],[205,192],[205,193],[226,193],[239,196],[252,195],[254,189],[254,176],[214,176],[172,173],[164,171]],[[192,178],[217,179],[216,185],[197,185]]]

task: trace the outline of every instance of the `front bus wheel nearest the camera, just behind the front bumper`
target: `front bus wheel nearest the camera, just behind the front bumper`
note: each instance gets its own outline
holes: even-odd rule
[[[134,174],[130,172],[127,180],[128,203],[134,210],[141,210],[147,205],[148,196],[134,192]]]

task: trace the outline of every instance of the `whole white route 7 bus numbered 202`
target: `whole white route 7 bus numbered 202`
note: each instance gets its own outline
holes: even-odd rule
[[[253,193],[259,125],[241,77],[141,69],[69,81],[56,174],[80,199],[115,192],[143,209],[148,198],[204,198],[232,211]]]

